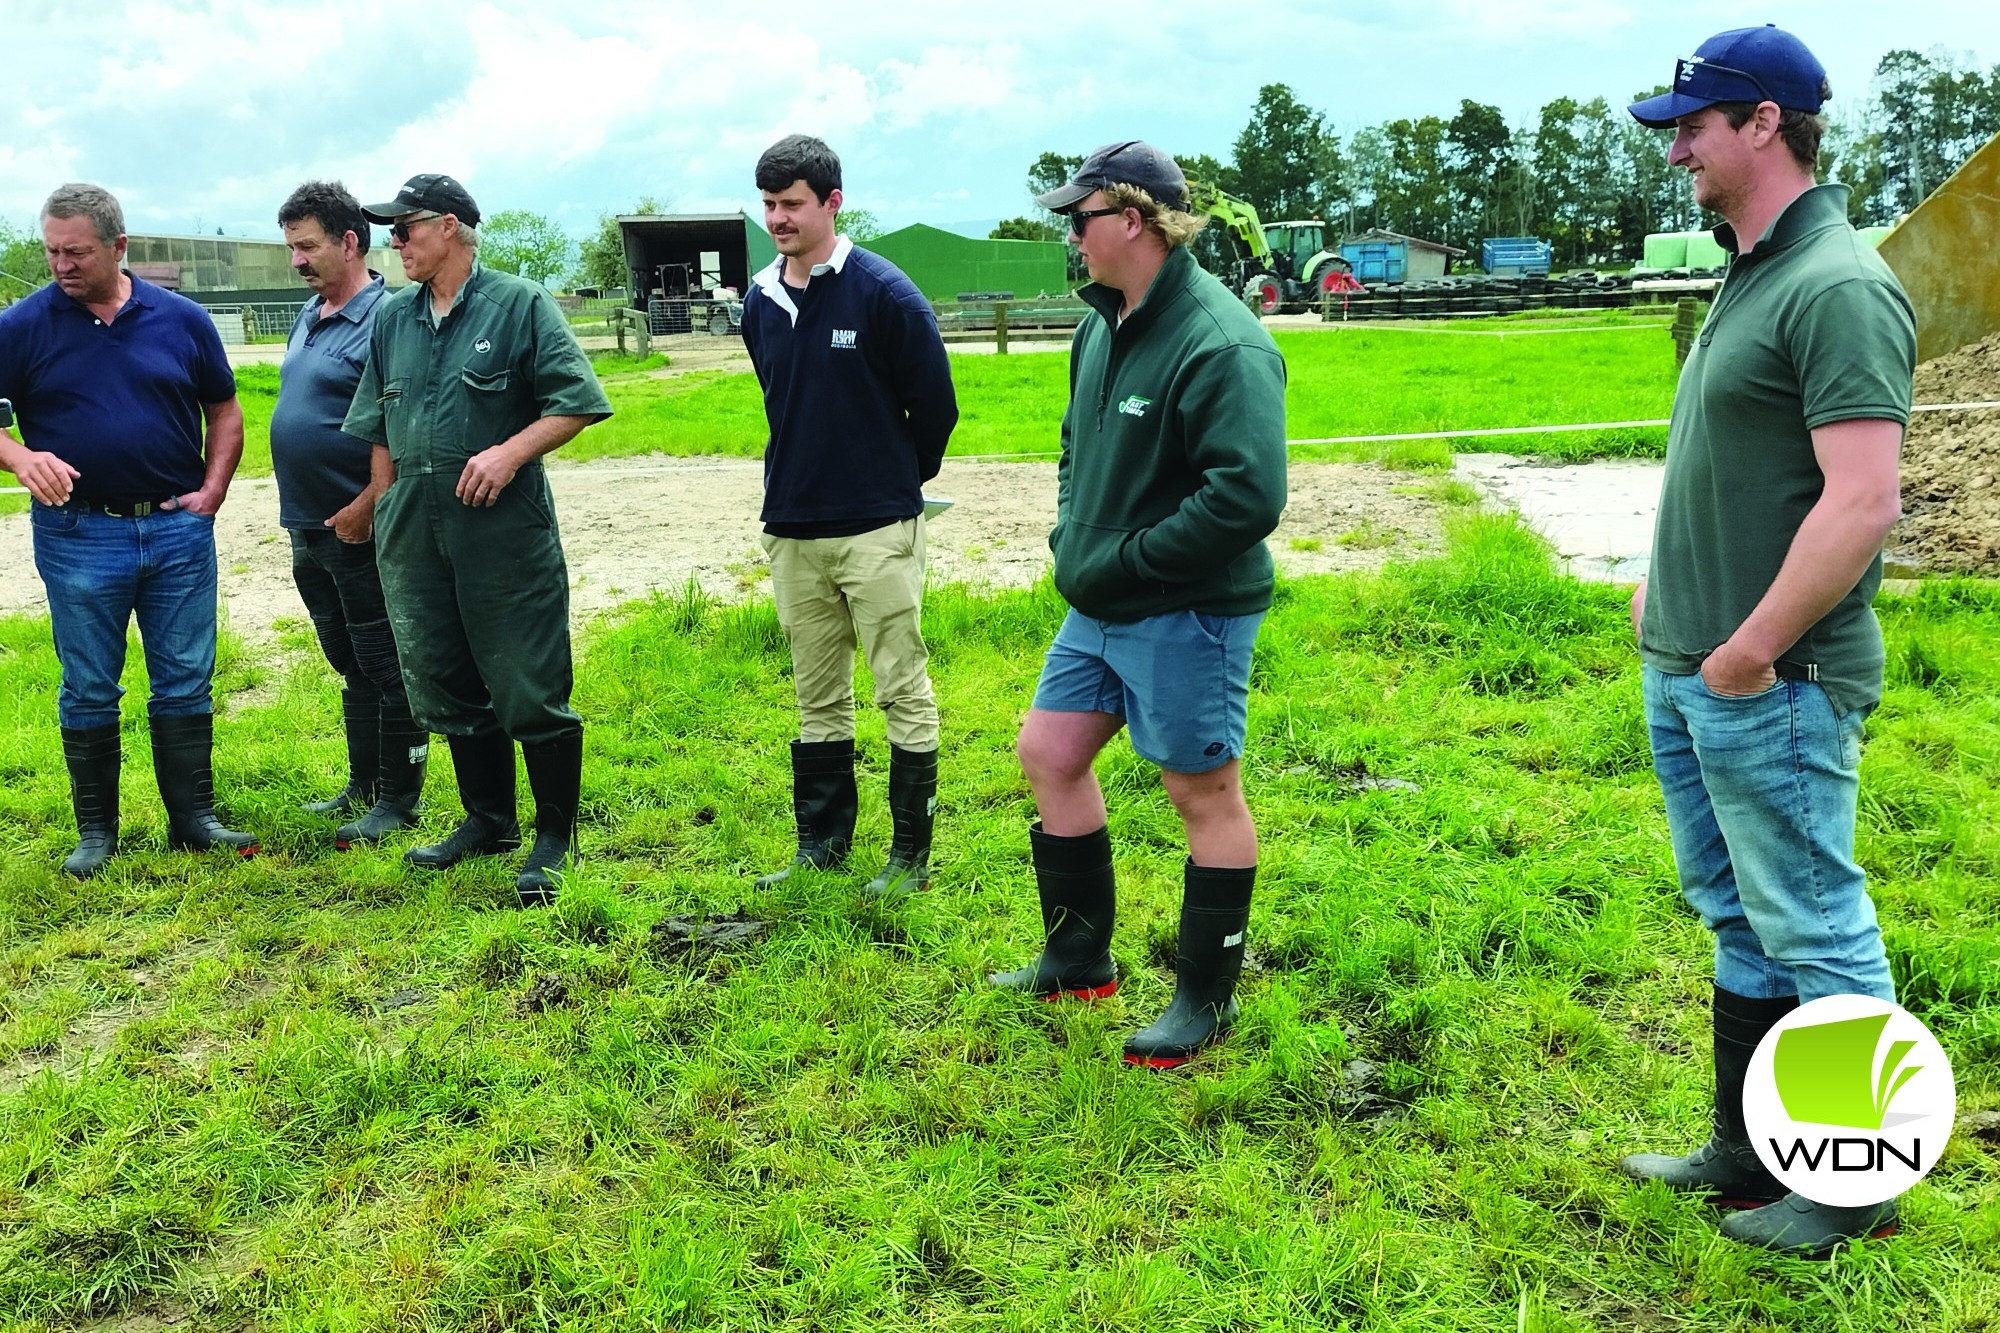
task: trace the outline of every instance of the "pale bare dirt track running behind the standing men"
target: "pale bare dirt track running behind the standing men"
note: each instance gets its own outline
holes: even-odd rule
[[[1372,568],[1392,554],[1434,546],[1438,504],[1398,494],[1420,478],[1372,464],[1292,464],[1292,500],[1270,538],[1288,574]],[[762,468],[750,458],[610,458],[554,464],[550,486],[570,562],[570,606],[584,620],[692,576],[716,596],[762,594],[758,546]],[[1056,516],[1052,462],[946,462],[928,486],[958,504],[930,524],[930,572],[940,582],[1026,586],[1048,566]],[[1364,530],[1362,542],[1340,536]],[[1294,540],[1316,548],[1296,550]],[[274,622],[302,618],[290,544],[278,528],[278,490],[244,480],[216,520],[228,624],[252,642],[276,638]],[[0,584],[0,612],[46,610],[34,578],[28,516],[0,518],[0,562],[28,576]]]

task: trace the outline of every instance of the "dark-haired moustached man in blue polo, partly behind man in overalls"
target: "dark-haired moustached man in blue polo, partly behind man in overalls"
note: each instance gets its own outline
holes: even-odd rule
[[[430,733],[410,717],[376,570],[374,508],[388,476],[372,476],[374,444],[340,428],[384,286],[368,268],[368,218],[338,182],[292,190],[278,226],[292,270],[314,292],[292,324],[270,414],[278,522],[292,534],[292,580],[320,648],[346,681],[348,785],[306,809],[346,819],[334,843],[350,847],[416,823],[430,755]]]

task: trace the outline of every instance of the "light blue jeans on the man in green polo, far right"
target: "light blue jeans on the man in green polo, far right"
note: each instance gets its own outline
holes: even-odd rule
[[[1894,1001],[1854,865],[1862,723],[1814,681],[1744,699],[1646,666],[1646,729],[1680,893],[1716,935],[1716,985],[1750,999]]]

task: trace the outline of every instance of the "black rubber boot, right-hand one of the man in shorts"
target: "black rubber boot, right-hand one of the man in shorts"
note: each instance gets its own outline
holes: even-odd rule
[[[1180,957],[1174,999],[1150,1027],[1126,1037],[1126,1065],[1174,1069],[1222,1041],[1236,1023],[1236,979],[1244,971],[1250,889],[1256,867],[1186,863],[1180,891]]]

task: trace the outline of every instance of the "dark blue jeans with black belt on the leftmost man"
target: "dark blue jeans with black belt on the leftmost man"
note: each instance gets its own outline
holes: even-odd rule
[[[64,727],[112,727],[124,687],[126,626],[138,616],[150,717],[212,713],[216,520],[188,510],[112,518],[36,502],[34,568],[48,586]]]

